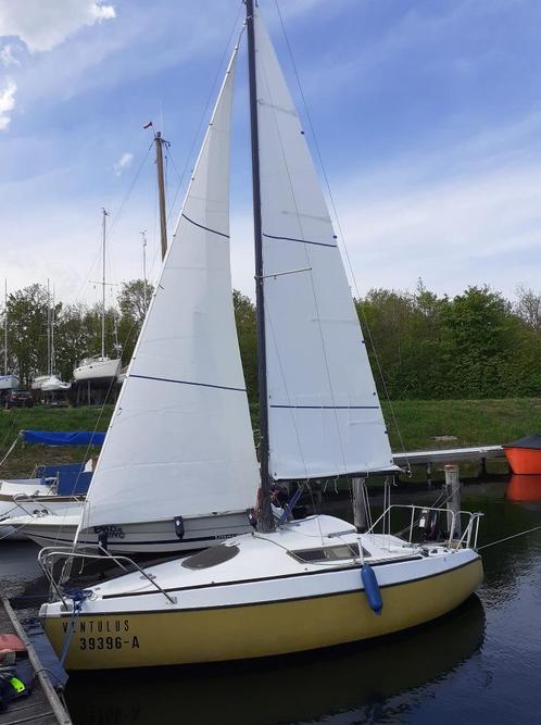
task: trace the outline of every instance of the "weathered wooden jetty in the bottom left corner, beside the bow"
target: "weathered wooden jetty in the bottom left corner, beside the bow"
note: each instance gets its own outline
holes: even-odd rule
[[[72,725],[72,720],[54,690],[47,671],[26,636],[13,608],[5,597],[0,598],[0,632],[14,634],[24,642],[34,671],[29,697],[12,700],[5,712],[0,712],[0,725]]]

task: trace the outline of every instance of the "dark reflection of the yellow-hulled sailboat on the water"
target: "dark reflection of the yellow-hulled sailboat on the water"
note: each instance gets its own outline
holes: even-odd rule
[[[322,721],[449,675],[480,648],[483,632],[474,596],[430,625],[377,642],[272,661],[73,676],[68,705],[80,725],[162,723],[174,713],[188,723]],[[90,688],[98,701],[88,701]]]

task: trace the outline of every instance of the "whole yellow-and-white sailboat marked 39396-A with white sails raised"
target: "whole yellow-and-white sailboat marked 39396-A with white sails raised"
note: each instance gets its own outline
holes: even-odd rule
[[[478,514],[469,515],[458,540],[451,533],[444,541],[428,545],[414,540],[415,508],[407,513],[405,538],[391,535],[390,526],[383,534],[376,534],[375,527],[358,534],[348,522],[327,515],[300,521],[282,516],[275,524],[272,480],[366,476],[392,470],[393,463],[309,147],[260,10],[253,0],[246,5],[260,351],[257,529],[99,583],[79,595],[63,591],[52,576],[59,552],[43,550],[40,562],[58,599],[41,607],[40,617],[71,670],[262,658],[387,635],[457,607],[482,577],[475,548]],[[178,307],[175,315],[192,325],[184,338],[189,347],[183,347],[183,376],[161,366],[160,341],[140,346],[126,383],[137,378],[134,390],[147,407],[127,399],[119,401],[116,412],[117,420],[127,418],[128,434],[136,412],[148,415],[149,425],[164,411],[167,415],[168,396],[176,391],[184,400],[181,407],[173,405],[186,432],[183,450],[197,442],[193,436],[201,426],[211,426],[199,449],[210,464],[210,478],[198,483],[207,487],[209,502],[216,505],[219,482],[231,471],[215,455],[215,436],[250,436],[242,413],[243,385],[235,375],[229,377],[235,332],[230,325],[213,325],[223,321],[223,314],[214,317],[219,312],[216,290],[224,292],[230,285],[228,161],[236,58],[237,49],[147,320],[148,326],[159,312],[164,323],[171,320],[162,293],[175,285],[188,308],[181,312],[184,305]],[[229,298],[230,292],[228,287]],[[203,330],[215,330],[219,343],[212,345]],[[202,354],[193,357],[194,350]],[[137,365],[148,372],[142,375]],[[154,390],[147,387],[156,379],[162,384]],[[146,392],[151,390],[155,413],[148,411]],[[222,408],[228,415],[218,420]],[[108,437],[103,453],[111,445]],[[92,488],[100,482],[103,461],[102,457]],[[253,447],[243,449],[243,463],[236,480],[251,489],[257,473]],[[165,470],[168,465],[165,459]],[[136,496],[142,495],[137,487]],[[155,505],[159,496],[156,478],[152,491],[146,491],[148,505]],[[93,512],[90,508],[96,523],[123,515],[119,508],[112,514],[105,513],[105,505]],[[386,511],[382,521],[390,516]]]

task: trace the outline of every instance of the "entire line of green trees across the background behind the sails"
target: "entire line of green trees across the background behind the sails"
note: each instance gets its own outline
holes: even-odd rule
[[[247,388],[255,401],[255,307],[237,290],[234,305]],[[24,386],[48,370],[49,307],[41,285],[8,298],[8,370]],[[518,288],[514,302],[488,286],[451,298],[419,280],[413,292],[372,289],[355,307],[382,398],[541,397],[541,295],[531,289]],[[101,350],[101,305],[56,302],[53,312],[53,372],[68,380],[81,358]],[[118,342],[127,364],[143,318],[143,282],[123,284],[105,310],[105,353],[114,354]]]

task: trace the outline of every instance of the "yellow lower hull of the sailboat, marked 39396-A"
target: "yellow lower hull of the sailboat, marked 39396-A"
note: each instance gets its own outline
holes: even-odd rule
[[[79,615],[67,670],[106,670],[261,658],[353,642],[423,624],[475,591],[482,564],[381,588],[376,615],[364,591],[213,609]],[[42,624],[60,654],[71,615]]]

